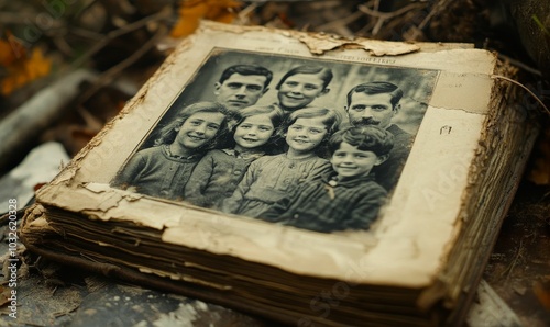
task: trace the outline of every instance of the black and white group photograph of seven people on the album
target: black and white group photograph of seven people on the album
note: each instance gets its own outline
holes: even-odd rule
[[[367,230],[438,74],[215,48],[111,185],[319,233]]]

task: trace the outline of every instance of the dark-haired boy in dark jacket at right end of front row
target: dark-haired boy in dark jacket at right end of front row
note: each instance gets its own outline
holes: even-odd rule
[[[376,126],[336,133],[329,140],[333,171],[302,184],[258,218],[321,233],[369,229],[387,196],[371,170],[387,159],[393,138]]]

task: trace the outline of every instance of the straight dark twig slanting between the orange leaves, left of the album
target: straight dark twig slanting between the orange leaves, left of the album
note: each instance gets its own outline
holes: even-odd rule
[[[78,103],[86,102],[91,95],[94,95],[99,89],[105,87],[109,81],[111,81],[114,76],[120,74],[122,70],[127,69],[135,61],[138,61],[143,55],[145,55],[151,48],[153,48],[158,41],[168,33],[168,29],[164,25],[161,25],[155,35],[151,37],[143,46],[141,46],[135,53],[133,53],[130,57],[120,61],[116,66],[109,68],[109,70],[105,71],[99,76],[99,78],[95,81],[94,86],[89,88],[82,95],[79,97]]]

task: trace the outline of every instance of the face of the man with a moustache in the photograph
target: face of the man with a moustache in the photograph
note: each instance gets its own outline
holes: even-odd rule
[[[394,110],[392,94],[389,93],[353,93],[348,108],[350,123],[358,127],[374,125],[387,128],[396,113],[397,109]]]

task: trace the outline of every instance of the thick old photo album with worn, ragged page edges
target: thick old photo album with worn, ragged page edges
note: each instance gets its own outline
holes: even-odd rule
[[[460,324],[537,134],[512,75],[466,44],[204,22],[23,241],[298,326]]]

